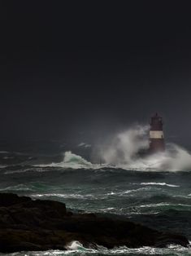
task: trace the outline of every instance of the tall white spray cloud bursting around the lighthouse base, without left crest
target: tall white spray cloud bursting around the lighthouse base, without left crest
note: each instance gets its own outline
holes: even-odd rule
[[[133,170],[190,170],[191,155],[174,143],[165,152],[145,154],[149,148],[149,126],[132,126],[99,145],[98,156],[107,165]]]

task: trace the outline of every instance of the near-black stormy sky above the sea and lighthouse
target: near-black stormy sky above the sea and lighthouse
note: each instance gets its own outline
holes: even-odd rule
[[[191,139],[189,1],[8,0],[0,17],[0,139],[97,139],[155,112]]]

